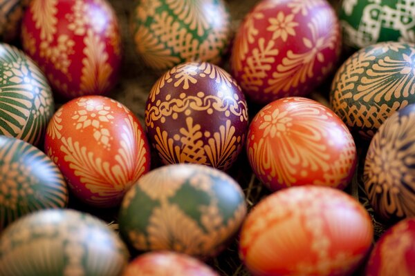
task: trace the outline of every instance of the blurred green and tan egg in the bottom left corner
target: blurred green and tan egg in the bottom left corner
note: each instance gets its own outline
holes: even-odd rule
[[[42,210],[0,236],[0,275],[118,276],[128,251],[100,219],[75,210]]]

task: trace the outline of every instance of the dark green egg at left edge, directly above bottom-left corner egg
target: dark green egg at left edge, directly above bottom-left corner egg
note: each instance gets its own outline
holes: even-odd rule
[[[67,204],[68,188],[55,163],[35,146],[0,135],[0,231],[23,215]]]

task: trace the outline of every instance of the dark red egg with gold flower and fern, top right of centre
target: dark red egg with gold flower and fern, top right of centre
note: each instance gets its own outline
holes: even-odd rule
[[[326,0],[263,0],[232,48],[232,75],[252,101],[311,92],[340,54],[340,26]]]

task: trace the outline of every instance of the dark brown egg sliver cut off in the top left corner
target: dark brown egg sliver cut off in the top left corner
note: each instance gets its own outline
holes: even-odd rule
[[[19,37],[27,5],[28,0],[0,0],[0,41],[10,42]]]

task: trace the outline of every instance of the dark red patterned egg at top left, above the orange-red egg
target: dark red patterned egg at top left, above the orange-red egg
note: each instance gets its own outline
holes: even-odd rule
[[[121,39],[106,0],[33,0],[21,39],[54,91],[65,98],[102,95],[116,84]]]

